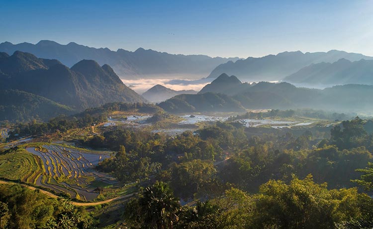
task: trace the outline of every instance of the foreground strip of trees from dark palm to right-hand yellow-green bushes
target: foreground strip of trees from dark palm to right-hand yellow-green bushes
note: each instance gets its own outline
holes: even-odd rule
[[[125,218],[133,229],[334,229],[372,217],[368,195],[354,188],[328,190],[310,175],[288,184],[270,180],[254,195],[232,188],[223,196],[181,207],[169,187],[156,182],[127,204]]]

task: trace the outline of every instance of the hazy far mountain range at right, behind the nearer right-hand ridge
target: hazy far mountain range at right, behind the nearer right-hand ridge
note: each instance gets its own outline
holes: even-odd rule
[[[373,57],[357,53],[331,50],[329,52],[302,53],[282,52],[260,58],[249,57],[245,60],[229,61],[217,66],[208,78],[216,78],[222,73],[235,75],[242,81],[277,81],[299,71],[310,64],[321,62],[333,63],[345,58],[350,61],[372,60]]]

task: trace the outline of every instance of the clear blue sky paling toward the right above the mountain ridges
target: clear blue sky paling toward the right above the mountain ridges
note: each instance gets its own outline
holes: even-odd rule
[[[0,42],[210,56],[373,56],[373,0],[0,0]]]

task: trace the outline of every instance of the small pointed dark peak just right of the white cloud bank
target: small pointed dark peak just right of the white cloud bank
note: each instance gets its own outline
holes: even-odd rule
[[[223,93],[226,95],[234,95],[238,92],[245,91],[248,87],[251,87],[252,84],[242,83],[235,76],[228,76],[223,73],[210,84],[204,86],[198,94],[203,94],[206,92],[213,93]]]

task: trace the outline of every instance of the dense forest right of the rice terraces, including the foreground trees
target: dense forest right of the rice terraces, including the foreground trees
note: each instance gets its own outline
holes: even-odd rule
[[[98,169],[120,180],[158,180],[127,204],[129,228],[373,225],[373,201],[362,192],[372,189],[373,138],[359,117],[335,126],[321,141],[309,131],[247,138],[242,128],[227,123],[200,129],[198,135],[141,135],[144,144],[138,138],[118,131],[100,138],[119,151]],[[182,207],[179,198],[200,201]]]

